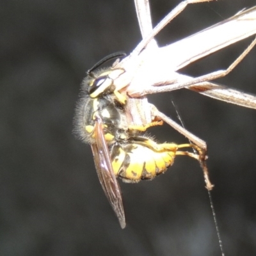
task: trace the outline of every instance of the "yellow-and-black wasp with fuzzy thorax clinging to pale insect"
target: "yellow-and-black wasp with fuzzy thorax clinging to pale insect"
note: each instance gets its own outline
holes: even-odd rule
[[[115,83],[125,72],[116,68],[119,59],[112,67],[99,69],[102,63],[122,56],[122,52],[111,54],[88,70],[76,108],[75,131],[91,145],[100,184],[124,228],[124,206],[116,177],[131,183],[152,180],[166,172],[175,156],[181,155],[197,159],[204,170],[207,189],[212,184],[205,165],[206,147],[195,143],[158,143],[145,135],[148,128],[162,125],[163,121],[170,124],[170,118],[149,104],[146,97],[134,99],[125,90],[116,90]],[[180,132],[182,129],[179,127]],[[193,148],[194,152],[184,148]]]

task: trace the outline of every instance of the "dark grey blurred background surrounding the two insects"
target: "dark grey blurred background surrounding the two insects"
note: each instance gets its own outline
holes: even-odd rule
[[[154,24],[179,2],[152,0]],[[159,45],[253,4],[188,6],[157,36]],[[221,255],[195,160],[177,157],[151,182],[120,182],[127,218],[122,230],[100,187],[90,147],[72,134],[86,70],[112,52],[131,52],[141,40],[133,1],[8,0],[1,1],[0,13],[0,255]],[[182,72],[198,76],[226,68],[251,41]],[[256,94],[255,56],[253,49],[218,83]],[[150,97],[177,119],[172,99],[189,131],[208,143],[211,195],[225,252],[255,255],[256,111],[185,89]],[[159,141],[187,141],[167,126],[152,134]]]

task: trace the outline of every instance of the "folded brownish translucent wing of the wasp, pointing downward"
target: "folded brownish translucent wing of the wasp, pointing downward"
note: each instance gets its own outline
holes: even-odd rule
[[[100,184],[107,196],[111,207],[116,213],[122,228],[125,228],[124,205],[120,187],[113,172],[109,149],[102,131],[102,121],[95,123],[95,140],[92,144],[92,152]]]

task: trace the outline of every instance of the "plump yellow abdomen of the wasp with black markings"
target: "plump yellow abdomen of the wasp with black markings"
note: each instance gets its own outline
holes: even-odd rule
[[[167,145],[170,147],[167,148]],[[154,149],[136,141],[115,145],[111,150],[115,175],[124,182],[139,182],[144,179],[154,179],[157,175],[164,173],[173,164],[177,147],[172,143],[157,146],[159,148]]]

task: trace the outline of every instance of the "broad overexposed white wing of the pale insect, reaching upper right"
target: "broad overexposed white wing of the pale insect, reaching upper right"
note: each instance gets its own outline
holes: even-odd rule
[[[152,60],[152,62],[170,65],[170,60],[172,60],[173,69],[179,70],[200,58],[255,34],[256,6],[173,44],[159,47],[156,54],[157,60]],[[191,45],[193,47],[189,47]]]

